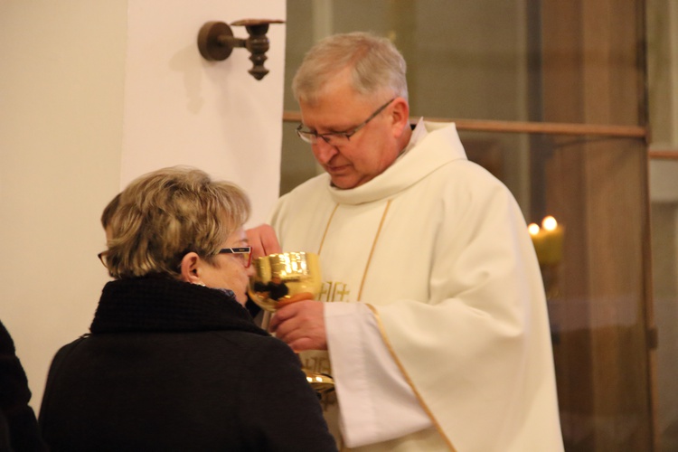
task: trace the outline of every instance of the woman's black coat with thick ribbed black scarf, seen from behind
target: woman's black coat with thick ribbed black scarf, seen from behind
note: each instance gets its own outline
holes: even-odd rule
[[[297,355],[219,290],[112,281],[90,330],[48,375],[53,451],[336,450]]]

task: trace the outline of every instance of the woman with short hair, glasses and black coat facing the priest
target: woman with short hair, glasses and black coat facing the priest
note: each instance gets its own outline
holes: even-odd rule
[[[52,451],[335,450],[297,356],[243,307],[250,204],[190,168],[141,176],[109,212],[91,334],[56,354]]]

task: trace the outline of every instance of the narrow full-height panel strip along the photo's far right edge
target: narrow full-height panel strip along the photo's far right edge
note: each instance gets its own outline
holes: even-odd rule
[[[647,90],[659,452],[678,450],[678,2],[648,0]]]

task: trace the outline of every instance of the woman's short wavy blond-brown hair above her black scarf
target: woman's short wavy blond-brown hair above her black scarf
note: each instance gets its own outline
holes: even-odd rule
[[[120,193],[110,215],[108,273],[179,278],[187,252],[211,261],[249,216],[250,201],[240,187],[201,170],[174,166],[144,174]]]

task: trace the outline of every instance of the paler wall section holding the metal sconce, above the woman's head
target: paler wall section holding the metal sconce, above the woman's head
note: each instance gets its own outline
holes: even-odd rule
[[[280,182],[285,25],[268,29],[263,80],[248,73],[250,52],[205,61],[196,36],[206,22],[285,19],[285,11],[284,0],[128,2],[123,185],[161,166],[198,166],[245,188],[256,200],[250,222],[265,221]],[[232,32],[248,36],[242,26]]]

